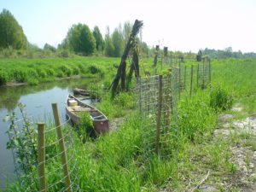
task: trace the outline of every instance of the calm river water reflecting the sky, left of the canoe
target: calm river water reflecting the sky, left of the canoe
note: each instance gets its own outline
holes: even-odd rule
[[[67,94],[73,93],[74,87],[86,89],[94,81],[95,79],[68,79],[36,86],[0,87],[0,191],[5,188],[7,179],[15,179],[13,154],[6,149],[9,136],[5,132],[8,131],[9,123],[3,122],[3,118],[13,111],[21,118],[17,108],[19,102],[26,104],[26,113],[37,119],[44,119],[45,115],[52,113],[51,103],[57,102],[59,112],[64,117]]]

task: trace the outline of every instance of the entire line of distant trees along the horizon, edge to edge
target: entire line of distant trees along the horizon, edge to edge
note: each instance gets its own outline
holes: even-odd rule
[[[57,48],[50,44],[44,44],[40,49],[37,45],[30,44],[23,32],[22,26],[19,25],[9,10],[3,9],[0,14],[0,51],[8,57],[12,52],[17,51],[17,55],[32,57],[34,52],[41,55],[68,56],[70,53],[76,55],[105,55],[109,57],[120,57],[125,49],[125,44],[131,33],[132,23],[126,21],[123,25],[119,24],[110,34],[109,26],[103,38],[102,32],[98,26],[90,30],[89,26],[78,23],[74,24],[67,32],[66,38],[63,39]],[[154,46],[149,47],[146,42],[142,42],[141,37],[137,37],[138,47],[141,55],[144,57],[154,56]],[[231,47],[226,49],[202,49],[203,55],[209,55],[212,58],[256,58],[256,53],[242,53],[241,50],[233,51]],[[160,53],[162,50],[160,50]],[[169,51],[170,55],[195,55],[195,53],[183,53],[181,51]],[[39,54],[39,55],[40,55]]]

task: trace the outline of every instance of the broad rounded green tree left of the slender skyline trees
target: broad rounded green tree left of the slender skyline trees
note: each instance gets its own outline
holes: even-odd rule
[[[90,32],[90,28],[84,24],[79,23],[73,25],[67,32],[67,37],[63,41],[64,47],[72,49],[76,53],[83,53],[90,55],[96,48],[96,40]]]

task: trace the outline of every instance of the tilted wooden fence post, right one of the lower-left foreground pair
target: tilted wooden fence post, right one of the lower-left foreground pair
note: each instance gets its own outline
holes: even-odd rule
[[[64,172],[64,177],[65,177],[65,185],[66,185],[67,191],[72,192],[71,181],[70,181],[68,167],[67,167],[66,149],[64,145],[64,138],[62,136],[62,131],[61,131],[61,120],[58,112],[57,103],[55,102],[51,103],[51,106],[52,106],[52,110],[55,117],[56,132],[59,140],[59,148],[61,152],[61,163],[62,163],[62,168]]]

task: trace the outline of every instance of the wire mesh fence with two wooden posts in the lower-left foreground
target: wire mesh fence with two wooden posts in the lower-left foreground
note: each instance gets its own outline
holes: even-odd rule
[[[20,191],[79,191],[70,118],[59,125],[51,119],[37,126],[26,115],[23,119],[11,118],[9,148],[14,154]]]

